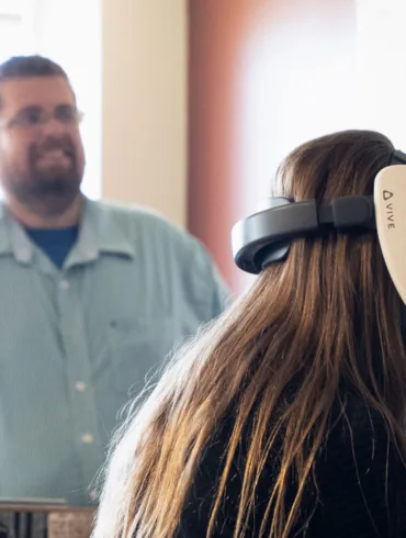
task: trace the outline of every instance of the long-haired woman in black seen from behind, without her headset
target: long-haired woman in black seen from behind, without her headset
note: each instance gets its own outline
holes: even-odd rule
[[[393,150],[314,139],[272,195],[370,195]],[[403,309],[376,231],[295,239],[128,417],[94,538],[406,537]]]

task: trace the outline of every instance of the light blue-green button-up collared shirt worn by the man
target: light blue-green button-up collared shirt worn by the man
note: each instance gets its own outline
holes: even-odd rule
[[[129,390],[226,298],[154,213],[87,200],[59,270],[0,206],[0,497],[86,505]]]

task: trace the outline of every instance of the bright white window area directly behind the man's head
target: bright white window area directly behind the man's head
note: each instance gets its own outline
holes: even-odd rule
[[[83,192],[102,192],[101,12],[100,0],[0,0],[0,63],[41,54],[67,71],[84,113],[87,155]],[[1,198],[1,194],[0,194]]]

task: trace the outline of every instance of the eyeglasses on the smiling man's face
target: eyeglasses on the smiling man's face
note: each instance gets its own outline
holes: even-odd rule
[[[60,104],[53,112],[47,112],[41,107],[27,107],[11,120],[0,122],[0,127],[30,128],[45,125],[50,120],[56,120],[66,126],[76,126],[80,124],[82,119],[83,114],[69,104]]]

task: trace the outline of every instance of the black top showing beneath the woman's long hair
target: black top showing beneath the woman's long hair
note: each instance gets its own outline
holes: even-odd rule
[[[221,474],[219,461],[232,427],[232,419],[227,419],[204,452],[177,538],[206,537]],[[244,445],[235,458],[214,538],[233,537],[247,453]],[[247,537],[259,536],[275,472],[274,461],[268,461]],[[362,402],[352,401],[346,418],[341,417],[331,429],[317,459],[316,477],[319,489],[316,509],[306,533],[292,533],[292,538],[406,537],[406,469],[390,441],[383,418]],[[292,498],[292,492],[287,492],[287,498]],[[304,513],[311,506],[314,508],[315,498],[311,491],[306,493]]]

